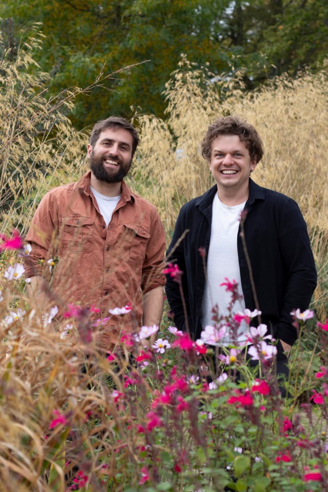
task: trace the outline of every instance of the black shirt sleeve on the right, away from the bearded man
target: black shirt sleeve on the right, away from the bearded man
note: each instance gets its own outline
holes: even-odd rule
[[[297,308],[301,312],[309,308],[317,285],[317,272],[305,220],[292,199],[281,219],[279,246],[288,283],[276,336],[293,345],[298,334],[290,313]]]

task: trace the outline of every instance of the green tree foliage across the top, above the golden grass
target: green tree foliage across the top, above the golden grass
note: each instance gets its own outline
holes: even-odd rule
[[[77,97],[70,118],[78,128],[108,114],[130,117],[131,107],[162,116],[162,92],[181,53],[215,74],[246,67],[253,89],[285,71],[314,69],[327,52],[324,0],[7,0],[0,16],[10,46],[29,22],[42,23],[36,60],[50,72],[51,94],[88,86],[105,61],[113,72],[149,60]]]

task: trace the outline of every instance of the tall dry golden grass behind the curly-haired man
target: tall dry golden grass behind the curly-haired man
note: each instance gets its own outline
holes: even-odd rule
[[[200,143],[216,118],[236,114],[258,130],[264,156],[253,179],[294,198],[308,224],[318,265],[316,300],[326,301],[328,208],[326,183],[327,71],[280,77],[256,92],[240,90],[242,73],[207,83],[206,67],[193,71],[183,58],[167,85],[168,119],[138,117],[141,145],[134,164],[139,192],[152,201],[170,240],[181,204],[213,184]]]

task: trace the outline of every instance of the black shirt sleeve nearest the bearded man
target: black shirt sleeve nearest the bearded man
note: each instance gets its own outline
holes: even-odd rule
[[[173,315],[174,323],[179,330],[184,330],[186,325],[186,316],[181,294],[183,295],[183,299],[185,301],[187,317],[189,320],[191,316],[188,293],[188,272],[186,271],[187,261],[185,258],[185,243],[187,241],[188,234],[188,230],[186,229],[185,211],[186,206],[183,206],[179,212],[172,241],[167,251],[168,263],[177,264],[179,270],[183,272],[180,284],[175,280],[175,277],[171,277],[169,273],[166,275],[166,295],[171,313]]]

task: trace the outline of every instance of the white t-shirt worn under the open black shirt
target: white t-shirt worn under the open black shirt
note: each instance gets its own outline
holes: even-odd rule
[[[235,280],[238,283],[238,293],[242,295],[240,270],[237,251],[237,234],[239,229],[240,214],[245,206],[245,201],[239,205],[228,207],[224,205],[216,193],[212,206],[211,240],[207,259],[207,279],[202,302],[202,327],[214,325],[212,308],[218,305],[219,316],[227,316],[228,305],[231,302],[231,293],[226,291],[226,286],[220,286],[226,282]],[[233,314],[244,311],[245,302],[242,299],[233,306]],[[248,325],[242,321],[238,330],[238,343],[246,340]],[[227,332],[221,338],[219,344],[227,346],[233,339]]]

